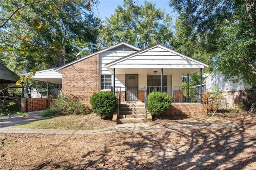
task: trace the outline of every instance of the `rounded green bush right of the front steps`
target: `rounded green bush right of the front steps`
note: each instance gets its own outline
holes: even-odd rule
[[[170,108],[172,103],[172,97],[170,97],[166,92],[161,93],[159,91],[152,91],[147,96],[147,109],[156,117],[160,116]]]

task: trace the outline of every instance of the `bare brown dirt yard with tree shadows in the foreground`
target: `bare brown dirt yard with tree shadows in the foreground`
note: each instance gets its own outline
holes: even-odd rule
[[[0,139],[11,140],[0,150],[6,153],[0,169],[256,169],[256,115],[164,119],[148,126],[154,130],[0,134]]]

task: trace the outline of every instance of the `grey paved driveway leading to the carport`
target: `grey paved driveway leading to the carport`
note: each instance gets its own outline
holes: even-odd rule
[[[32,121],[46,119],[46,117],[42,117],[40,115],[42,111],[28,112],[28,115],[26,117],[23,117],[22,114],[11,115],[12,117],[10,119],[8,116],[0,117],[0,130],[4,128],[16,126],[16,125],[22,125]]]

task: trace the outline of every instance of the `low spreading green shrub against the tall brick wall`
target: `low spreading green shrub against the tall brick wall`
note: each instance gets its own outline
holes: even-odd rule
[[[90,113],[88,106],[83,105],[72,94],[59,95],[52,100],[50,108],[43,111],[42,116],[51,117],[56,115],[87,115]]]

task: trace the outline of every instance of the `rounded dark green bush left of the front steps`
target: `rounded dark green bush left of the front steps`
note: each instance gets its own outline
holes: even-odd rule
[[[111,118],[117,106],[116,95],[112,92],[101,91],[90,98],[92,111],[101,118]]]

